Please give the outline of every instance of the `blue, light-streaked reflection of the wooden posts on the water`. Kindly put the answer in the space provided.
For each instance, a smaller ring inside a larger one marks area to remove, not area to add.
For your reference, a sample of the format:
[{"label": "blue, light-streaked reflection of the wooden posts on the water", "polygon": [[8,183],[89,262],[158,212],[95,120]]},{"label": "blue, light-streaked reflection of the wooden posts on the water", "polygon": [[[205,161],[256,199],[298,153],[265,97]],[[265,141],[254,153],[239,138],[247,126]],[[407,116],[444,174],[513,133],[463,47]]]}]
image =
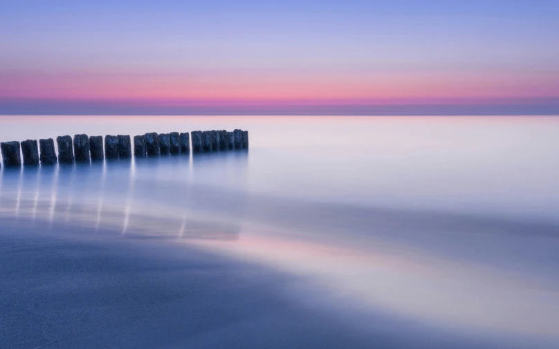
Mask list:
[{"label": "blue, light-streaked reflection of the wooden posts on the water", "polygon": [[[214,154],[216,155],[216,154]],[[245,155],[235,158],[243,159]],[[208,211],[214,197],[192,197],[192,178],[196,165],[212,172],[242,180],[243,162],[228,162],[228,156],[211,156],[191,163],[188,155],[163,158],[106,160],[91,164],[2,169],[0,183],[1,215],[15,220],[32,218],[35,222],[73,227],[91,227],[130,234],[129,237],[158,238],[236,238],[226,218]],[[219,178],[212,174],[208,178]],[[222,178],[223,180],[223,178]],[[235,209],[244,206],[243,196],[235,198]],[[203,202],[198,205],[197,202]],[[190,215],[190,211],[196,211]],[[196,217],[196,218],[189,218]]]}]

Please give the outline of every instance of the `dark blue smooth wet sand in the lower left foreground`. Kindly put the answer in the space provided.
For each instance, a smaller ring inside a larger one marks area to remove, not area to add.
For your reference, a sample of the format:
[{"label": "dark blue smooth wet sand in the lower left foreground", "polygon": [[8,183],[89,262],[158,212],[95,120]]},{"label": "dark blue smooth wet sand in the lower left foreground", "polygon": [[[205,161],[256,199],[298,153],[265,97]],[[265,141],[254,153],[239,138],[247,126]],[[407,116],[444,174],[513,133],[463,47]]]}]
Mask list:
[{"label": "dark blue smooth wet sand in the lower left foreground", "polygon": [[2,223],[0,348],[522,347],[340,312],[297,276],[185,245]]}]

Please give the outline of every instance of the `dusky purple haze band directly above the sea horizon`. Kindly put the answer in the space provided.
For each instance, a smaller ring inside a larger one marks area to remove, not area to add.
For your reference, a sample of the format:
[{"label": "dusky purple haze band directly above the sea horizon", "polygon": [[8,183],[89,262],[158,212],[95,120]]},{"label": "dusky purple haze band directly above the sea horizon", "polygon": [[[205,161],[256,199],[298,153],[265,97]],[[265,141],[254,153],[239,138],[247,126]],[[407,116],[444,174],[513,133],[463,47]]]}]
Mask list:
[{"label": "dusky purple haze band directly above the sea horizon", "polygon": [[[161,101],[160,101],[161,102]],[[424,100],[399,103],[293,101],[253,104],[157,103],[154,100],[50,100],[0,97],[0,115],[559,115],[559,98],[461,100],[448,103]],[[244,103],[243,103],[244,102]],[[292,103],[290,103],[292,102]],[[336,103],[337,102],[337,103]]]}]

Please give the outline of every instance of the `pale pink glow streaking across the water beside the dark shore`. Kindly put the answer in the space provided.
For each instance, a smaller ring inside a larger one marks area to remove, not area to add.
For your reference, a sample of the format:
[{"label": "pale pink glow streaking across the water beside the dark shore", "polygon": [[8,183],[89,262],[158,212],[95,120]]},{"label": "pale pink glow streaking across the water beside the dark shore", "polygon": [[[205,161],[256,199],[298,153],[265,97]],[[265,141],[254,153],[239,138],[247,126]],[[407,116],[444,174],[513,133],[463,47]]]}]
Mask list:
[{"label": "pale pink glow streaking across the water beside the dark shore", "polygon": [[382,309],[461,330],[559,340],[557,283],[543,285],[381,240],[350,247],[343,240],[324,242],[319,233],[304,240],[296,235],[250,227],[235,243],[188,243],[304,276],[349,308]]}]

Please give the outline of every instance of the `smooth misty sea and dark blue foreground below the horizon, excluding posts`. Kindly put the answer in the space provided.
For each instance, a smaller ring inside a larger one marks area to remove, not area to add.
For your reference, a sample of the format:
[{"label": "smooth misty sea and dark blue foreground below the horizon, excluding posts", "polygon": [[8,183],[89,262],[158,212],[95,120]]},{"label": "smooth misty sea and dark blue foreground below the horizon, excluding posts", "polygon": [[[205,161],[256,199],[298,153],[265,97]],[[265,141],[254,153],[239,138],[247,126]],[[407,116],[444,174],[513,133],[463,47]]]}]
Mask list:
[{"label": "smooth misty sea and dark blue foreground below the horizon, excluding posts", "polygon": [[0,348],[559,346],[559,117],[0,122],[250,137],[2,167]]}]

